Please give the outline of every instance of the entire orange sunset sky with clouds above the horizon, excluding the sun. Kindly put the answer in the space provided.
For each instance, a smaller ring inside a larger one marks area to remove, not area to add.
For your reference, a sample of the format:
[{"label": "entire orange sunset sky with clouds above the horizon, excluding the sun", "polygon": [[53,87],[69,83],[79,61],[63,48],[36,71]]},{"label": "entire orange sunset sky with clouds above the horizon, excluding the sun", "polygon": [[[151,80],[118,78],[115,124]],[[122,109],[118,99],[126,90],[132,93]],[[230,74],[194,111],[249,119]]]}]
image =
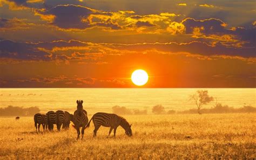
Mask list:
[{"label": "entire orange sunset sky with clouds above the horizon, excluding the sun", "polygon": [[0,87],[255,87],[255,1],[0,2]]}]

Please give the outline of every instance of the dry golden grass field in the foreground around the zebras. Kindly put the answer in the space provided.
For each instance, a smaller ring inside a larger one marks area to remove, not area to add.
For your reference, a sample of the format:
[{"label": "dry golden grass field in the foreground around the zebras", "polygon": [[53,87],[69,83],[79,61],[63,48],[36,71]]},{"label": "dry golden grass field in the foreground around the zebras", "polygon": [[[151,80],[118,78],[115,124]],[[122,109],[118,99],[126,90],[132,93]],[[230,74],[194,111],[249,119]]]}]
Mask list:
[{"label": "dry golden grass field in the foreground around the zebras", "polygon": [[[93,138],[93,123],[85,138],[76,130],[36,133],[33,117],[0,118],[0,159],[209,159],[255,158],[256,114],[130,115],[133,136],[100,127]],[[91,116],[89,116],[89,119]],[[112,133],[113,134],[113,133]]]}]

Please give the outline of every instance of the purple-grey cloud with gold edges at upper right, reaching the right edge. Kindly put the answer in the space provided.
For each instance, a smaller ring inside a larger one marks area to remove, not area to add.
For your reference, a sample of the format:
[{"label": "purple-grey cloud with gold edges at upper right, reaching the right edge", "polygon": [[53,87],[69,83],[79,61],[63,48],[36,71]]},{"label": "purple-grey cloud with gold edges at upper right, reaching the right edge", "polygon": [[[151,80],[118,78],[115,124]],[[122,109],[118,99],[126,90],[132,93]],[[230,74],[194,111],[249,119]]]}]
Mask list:
[{"label": "purple-grey cloud with gold edges at upper right, reaching the right edge", "polygon": [[220,19],[210,18],[196,20],[186,18],[182,21],[186,28],[186,34],[194,34],[196,38],[215,39],[215,42],[226,41],[227,46],[255,47],[255,27],[231,27]]}]

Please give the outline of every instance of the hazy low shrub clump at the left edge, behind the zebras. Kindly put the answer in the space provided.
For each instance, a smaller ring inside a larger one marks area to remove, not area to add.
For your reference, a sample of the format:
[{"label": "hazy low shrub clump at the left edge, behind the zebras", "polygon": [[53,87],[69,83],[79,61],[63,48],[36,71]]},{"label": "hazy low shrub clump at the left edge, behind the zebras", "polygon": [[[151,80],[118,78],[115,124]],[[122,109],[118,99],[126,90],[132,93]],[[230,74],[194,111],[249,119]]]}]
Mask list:
[{"label": "hazy low shrub clump at the left edge, behind the zebras", "polygon": [[40,109],[38,107],[14,107],[8,106],[6,108],[0,108],[0,116],[32,116],[39,113]]}]

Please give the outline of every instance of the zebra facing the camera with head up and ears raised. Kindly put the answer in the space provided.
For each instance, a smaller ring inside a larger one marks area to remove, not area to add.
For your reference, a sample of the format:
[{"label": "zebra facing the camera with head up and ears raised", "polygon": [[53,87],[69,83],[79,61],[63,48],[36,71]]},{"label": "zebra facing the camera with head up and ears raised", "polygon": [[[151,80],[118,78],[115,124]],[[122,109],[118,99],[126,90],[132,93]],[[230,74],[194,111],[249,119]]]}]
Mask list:
[{"label": "zebra facing the camera with head up and ears raised", "polygon": [[79,139],[80,127],[82,127],[81,131],[82,131],[82,139],[83,139],[84,129],[86,124],[88,123],[87,112],[83,109],[83,100],[82,101],[77,100],[77,110],[74,112],[72,122],[75,124],[75,126],[73,125],[73,127],[75,127],[77,130],[77,139]]}]

